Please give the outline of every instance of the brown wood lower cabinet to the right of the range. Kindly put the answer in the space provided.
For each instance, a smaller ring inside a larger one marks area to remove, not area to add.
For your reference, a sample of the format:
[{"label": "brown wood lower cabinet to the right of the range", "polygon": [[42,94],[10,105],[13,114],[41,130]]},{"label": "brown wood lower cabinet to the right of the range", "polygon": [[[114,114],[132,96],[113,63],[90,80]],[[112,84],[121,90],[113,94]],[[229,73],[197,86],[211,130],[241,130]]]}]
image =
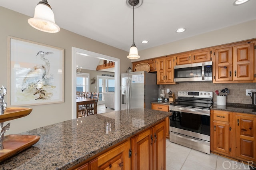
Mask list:
[{"label": "brown wood lower cabinet to the right of the range", "polygon": [[256,115],[211,110],[212,152],[256,162]]}]

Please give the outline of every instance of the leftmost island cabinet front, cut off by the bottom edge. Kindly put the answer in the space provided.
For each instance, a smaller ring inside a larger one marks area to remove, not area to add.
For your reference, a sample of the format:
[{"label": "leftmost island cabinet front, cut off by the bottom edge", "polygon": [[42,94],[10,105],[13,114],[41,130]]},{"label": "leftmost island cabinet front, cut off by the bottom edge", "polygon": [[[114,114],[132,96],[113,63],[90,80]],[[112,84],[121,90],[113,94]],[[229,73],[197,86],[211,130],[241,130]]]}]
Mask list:
[{"label": "leftmost island cabinet front, cut off by the bottom edge", "polygon": [[98,157],[98,170],[130,170],[129,158],[130,140],[116,146],[114,149]]}]

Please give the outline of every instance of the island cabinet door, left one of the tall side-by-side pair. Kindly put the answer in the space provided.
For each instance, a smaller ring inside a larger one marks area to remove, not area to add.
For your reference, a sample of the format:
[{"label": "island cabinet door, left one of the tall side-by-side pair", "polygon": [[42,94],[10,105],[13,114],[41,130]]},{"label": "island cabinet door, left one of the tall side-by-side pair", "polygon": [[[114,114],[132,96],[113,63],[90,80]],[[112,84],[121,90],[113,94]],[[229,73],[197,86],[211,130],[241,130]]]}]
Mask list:
[{"label": "island cabinet door, left one of the tall side-by-side pair", "polygon": [[152,128],[131,138],[132,142],[132,170],[153,169],[153,144]]}]

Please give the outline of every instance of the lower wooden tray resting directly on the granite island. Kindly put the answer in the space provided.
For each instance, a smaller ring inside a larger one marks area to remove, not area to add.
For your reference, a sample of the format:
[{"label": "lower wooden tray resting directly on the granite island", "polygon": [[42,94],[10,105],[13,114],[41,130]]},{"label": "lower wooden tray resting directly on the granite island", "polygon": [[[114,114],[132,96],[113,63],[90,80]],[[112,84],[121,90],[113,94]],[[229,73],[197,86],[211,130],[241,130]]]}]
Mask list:
[{"label": "lower wooden tray resting directly on the granite island", "polygon": [[38,142],[40,136],[26,134],[9,134],[4,136],[4,149],[0,150],[0,162],[18,154]]}]

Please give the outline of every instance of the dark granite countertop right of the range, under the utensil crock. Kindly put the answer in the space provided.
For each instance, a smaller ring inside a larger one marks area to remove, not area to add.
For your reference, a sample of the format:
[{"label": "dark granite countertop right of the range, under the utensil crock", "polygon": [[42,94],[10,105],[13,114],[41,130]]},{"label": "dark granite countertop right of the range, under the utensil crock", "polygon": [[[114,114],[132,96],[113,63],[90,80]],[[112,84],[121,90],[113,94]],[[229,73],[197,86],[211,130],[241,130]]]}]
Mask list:
[{"label": "dark granite countertop right of the range, under the utensil crock", "polygon": [[249,113],[256,115],[256,108],[248,104],[226,103],[226,106],[212,105],[211,109],[229,112]]}]

